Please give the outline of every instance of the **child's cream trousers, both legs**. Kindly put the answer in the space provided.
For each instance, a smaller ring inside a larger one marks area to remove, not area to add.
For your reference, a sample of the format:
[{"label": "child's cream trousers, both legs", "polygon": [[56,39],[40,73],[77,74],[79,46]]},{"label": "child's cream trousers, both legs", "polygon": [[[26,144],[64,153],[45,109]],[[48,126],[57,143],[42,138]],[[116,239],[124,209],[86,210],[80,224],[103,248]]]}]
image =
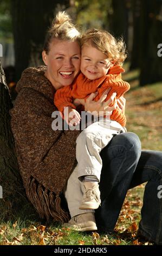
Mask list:
[{"label": "child's cream trousers, both legs", "polygon": [[83,192],[80,180],[84,175],[95,175],[100,181],[102,160],[101,150],[111,141],[114,135],[125,132],[126,129],[112,120],[100,119],[83,130],[76,139],[77,166],[70,175],[64,192],[70,216],[94,212],[94,210],[80,210]]}]

